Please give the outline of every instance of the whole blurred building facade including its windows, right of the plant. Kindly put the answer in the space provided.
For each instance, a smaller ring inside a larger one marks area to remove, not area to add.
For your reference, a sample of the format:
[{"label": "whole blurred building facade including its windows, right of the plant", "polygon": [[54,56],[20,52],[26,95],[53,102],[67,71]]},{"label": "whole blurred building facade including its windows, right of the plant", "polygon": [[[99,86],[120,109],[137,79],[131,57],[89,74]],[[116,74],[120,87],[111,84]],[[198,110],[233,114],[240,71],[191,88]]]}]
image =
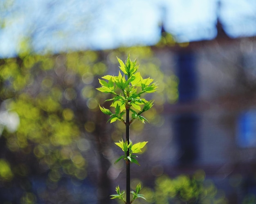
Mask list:
[{"label": "whole blurred building facade including its windows, right of the plant", "polygon": [[179,78],[179,100],[164,110],[175,149],[164,167],[171,175],[203,169],[230,203],[242,203],[256,195],[256,41],[217,28],[212,41],[155,49]]}]

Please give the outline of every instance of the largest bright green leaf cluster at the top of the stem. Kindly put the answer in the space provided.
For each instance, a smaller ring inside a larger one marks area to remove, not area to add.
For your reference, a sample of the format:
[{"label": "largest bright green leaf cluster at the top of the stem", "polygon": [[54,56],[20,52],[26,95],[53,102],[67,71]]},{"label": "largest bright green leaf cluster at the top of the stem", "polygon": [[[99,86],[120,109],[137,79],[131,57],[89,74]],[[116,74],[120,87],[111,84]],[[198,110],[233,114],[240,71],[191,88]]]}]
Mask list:
[{"label": "largest bright green leaf cluster at the top of the stem", "polygon": [[[100,110],[110,116],[110,123],[115,121],[124,121],[123,115],[127,109],[132,112],[133,120],[138,119],[142,123],[148,122],[148,120],[141,116],[141,114],[149,110],[153,106],[153,101],[147,101],[141,99],[141,94],[152,93],[157,90],[157,83],[153,83],[153,79],[150,77],[143,79],[140,73],[137,72],[139,66],[137,66],[137,60],[131,61],[130,55],[128,55],[126,63],[117,57],[119,61],[119,68],[123,74],[119,71],[118,76],[105,75],[102,79],[99,79],[101,84],[97,90],[105,93],[113,94],[112,99],[106,101],[112,101],[110,107],[115,107],[115,112],[111,112],[109,109],[101,107]],[[104,80],[105,79],[105,80]]]}]

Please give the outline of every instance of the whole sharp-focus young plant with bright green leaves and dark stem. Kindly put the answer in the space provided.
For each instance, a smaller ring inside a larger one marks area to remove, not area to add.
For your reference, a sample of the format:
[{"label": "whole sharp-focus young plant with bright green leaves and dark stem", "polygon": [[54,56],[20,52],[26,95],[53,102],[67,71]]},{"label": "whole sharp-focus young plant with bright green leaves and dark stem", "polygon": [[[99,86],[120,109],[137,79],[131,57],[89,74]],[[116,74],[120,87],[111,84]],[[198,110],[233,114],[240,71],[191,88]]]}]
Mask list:
[{"label": "whole sharp-focus young plant with bright green leaves and dark stem", "polygon": [[[110,123],[115,121],[121,121],[126,126],[126,138],[125,141],[121,139],[118,143],[115,143],[124,151],[124,155],[120,156],[115,163],[124,159],[126,162],[126,200],[124,199],[125,191],[120,192],[119,186],[116,187],[117,194],[111,195],[111,199],[118,198],[126,204],[131,204],[136,198],[143,198],[143,195],[139,194],[141,185],[138,184],[136,191],[130,191],[130,163],[139,165],[137,161],[136,153],[141,152],[141,149],[148,142],[139,142],[133,144],[130,140],[130,124],[135,120],[139,120],[142,123],[148,122],[148,120],[141,114],[149,110],[153,106],[153,101],[147,101],[141,98],[144,93],[153,93],[157,89],[157,84],[153,83],[153,79],[150,77],[143,79],[139,72],[137,72],[139,66],[137,61],[131,61],[130,55],[124,62],[117,57],[119,61],[118,76],[106,75],[99,79],[101,88],[97,90],[113,95],[112,99],[106,101],[112,101],[111,107],[114,107],[114,111],[110,111],[105,107],[100,107],[101,112],[110,116]],[[130,117],[131,112],[131,117]],[[125,116],[125,118],[123,117]],[[132,194],[132,200],[130,201],[130,193]]]}]

